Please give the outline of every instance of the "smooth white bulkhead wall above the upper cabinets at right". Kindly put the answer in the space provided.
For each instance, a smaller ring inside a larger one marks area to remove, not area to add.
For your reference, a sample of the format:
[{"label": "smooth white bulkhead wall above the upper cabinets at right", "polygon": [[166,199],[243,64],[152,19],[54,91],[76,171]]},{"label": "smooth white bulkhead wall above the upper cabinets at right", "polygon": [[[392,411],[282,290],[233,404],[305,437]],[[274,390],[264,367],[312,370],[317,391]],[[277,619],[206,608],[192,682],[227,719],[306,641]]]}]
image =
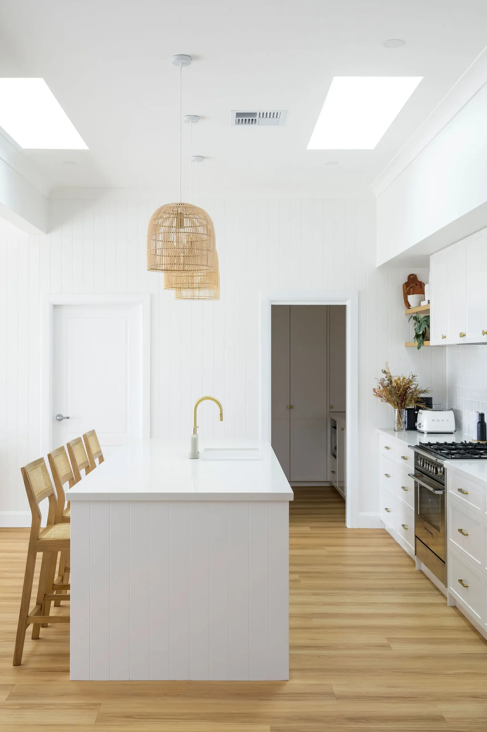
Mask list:
[{"label": "smooth white bulkhead wall above the upper cabinets at right", "polygon": [[[487,84],[377,198],[377,264],[487,226]],[[416,246],[418,245],[418,246]]]}]

